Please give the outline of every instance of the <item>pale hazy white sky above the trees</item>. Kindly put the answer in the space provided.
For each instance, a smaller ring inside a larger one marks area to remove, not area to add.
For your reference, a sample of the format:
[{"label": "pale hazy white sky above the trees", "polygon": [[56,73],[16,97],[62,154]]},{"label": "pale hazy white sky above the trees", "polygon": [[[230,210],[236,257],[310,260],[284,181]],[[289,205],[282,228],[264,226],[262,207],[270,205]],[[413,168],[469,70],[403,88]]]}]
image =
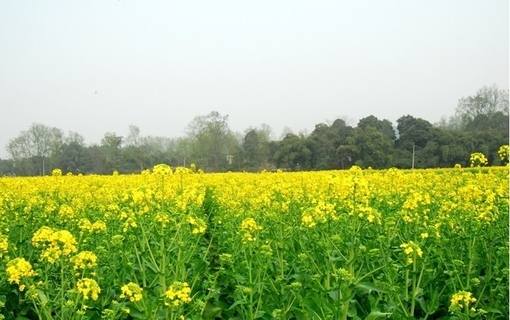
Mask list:
[{"label": "pale hazy white sky above the trees", "polygon": [[311,132],[339,117],[432,123],[483,85],[509,87],[509,2],[0,2],[0,158],[33,122],[178,137],[195,116],[232,130]]}]

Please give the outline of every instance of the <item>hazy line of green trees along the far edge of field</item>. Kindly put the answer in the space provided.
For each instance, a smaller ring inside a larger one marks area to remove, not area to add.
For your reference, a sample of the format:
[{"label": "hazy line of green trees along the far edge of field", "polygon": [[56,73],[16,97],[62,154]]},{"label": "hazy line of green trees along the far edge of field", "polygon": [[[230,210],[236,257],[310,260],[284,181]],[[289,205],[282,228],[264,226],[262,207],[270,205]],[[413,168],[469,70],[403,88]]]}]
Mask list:
[{"label": "hazy line of green trees along the far edge of field", "polygon": [[436,124],[411,115],[393,124],[370,115],[356,126],[336,119],[316,124],[310,134],[288,132],[279,140],[271,138],[267,125],[234,133],[228,116],[217,111],[195,117],[179,138],[143,136],[130,125],[127,136],[107,132],[100,144],[89,146],[79,133],[34,123],[9,141],[11,158],[0,160],[0,175],[45,175],[53,168],[73,174],[136,173],[158,163],[194,163],[206,172],[437,168],[469,166],[473,152],[498,165],[498,148],[508,144],[508,90],[493,85],[461,98],[455,115]]}]

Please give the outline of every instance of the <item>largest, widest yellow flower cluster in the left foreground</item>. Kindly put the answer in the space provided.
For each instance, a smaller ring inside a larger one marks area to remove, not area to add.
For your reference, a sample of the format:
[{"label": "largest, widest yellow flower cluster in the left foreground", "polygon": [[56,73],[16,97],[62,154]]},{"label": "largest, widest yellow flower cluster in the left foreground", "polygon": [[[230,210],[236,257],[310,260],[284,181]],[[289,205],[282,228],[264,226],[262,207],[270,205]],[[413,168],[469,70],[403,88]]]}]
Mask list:
[{"label": "largest, widest yellow flower cluster in the left foreground", "polygon": [[76,239],[67,230],[55,231],[49,227],[41,227],[32,237],[34,247],[43,247],[41,259],[54,263],[61,256],[69,256],[76,252]]}]

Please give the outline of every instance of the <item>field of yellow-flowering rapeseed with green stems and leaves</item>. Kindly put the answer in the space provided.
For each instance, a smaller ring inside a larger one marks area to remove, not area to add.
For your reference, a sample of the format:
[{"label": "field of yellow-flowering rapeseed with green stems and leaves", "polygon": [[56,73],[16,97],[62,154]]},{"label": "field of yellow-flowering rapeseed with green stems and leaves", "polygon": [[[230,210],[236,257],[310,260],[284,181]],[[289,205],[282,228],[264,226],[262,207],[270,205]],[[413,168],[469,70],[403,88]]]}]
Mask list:
[{"label": "field of yellow-flowering rapeseed with green stems and leaves", "polygon": [[0,178],[0,314],[507,319],[508,185],[508,167]]}]

